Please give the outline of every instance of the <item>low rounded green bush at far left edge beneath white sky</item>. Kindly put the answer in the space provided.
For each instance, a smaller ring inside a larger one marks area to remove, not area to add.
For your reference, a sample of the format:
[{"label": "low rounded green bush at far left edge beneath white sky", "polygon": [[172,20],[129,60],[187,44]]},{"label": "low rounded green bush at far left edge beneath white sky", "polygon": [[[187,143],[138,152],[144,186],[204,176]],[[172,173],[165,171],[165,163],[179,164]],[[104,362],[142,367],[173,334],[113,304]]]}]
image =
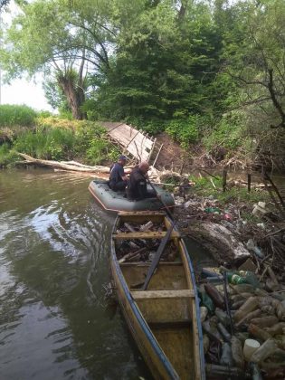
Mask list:
[{"label": "low rounded green bush at far left edge beneath white sky", "polygon": [[0,105],[0,126],[33,127],[37,113],[27,106]]}]

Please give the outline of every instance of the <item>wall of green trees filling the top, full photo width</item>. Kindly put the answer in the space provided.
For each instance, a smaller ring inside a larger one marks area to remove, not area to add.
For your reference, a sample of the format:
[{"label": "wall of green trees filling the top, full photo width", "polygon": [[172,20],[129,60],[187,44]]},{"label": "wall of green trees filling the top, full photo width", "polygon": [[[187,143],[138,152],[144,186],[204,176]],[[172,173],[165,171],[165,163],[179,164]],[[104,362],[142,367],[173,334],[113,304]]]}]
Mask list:
[{"label": "wall of green trees filling the top, full photo width", "polygon": [[7,79],[43,71],[48,99],[74,118],[166,127],[184,146],[285,127],[284,0],[18,4]]}]

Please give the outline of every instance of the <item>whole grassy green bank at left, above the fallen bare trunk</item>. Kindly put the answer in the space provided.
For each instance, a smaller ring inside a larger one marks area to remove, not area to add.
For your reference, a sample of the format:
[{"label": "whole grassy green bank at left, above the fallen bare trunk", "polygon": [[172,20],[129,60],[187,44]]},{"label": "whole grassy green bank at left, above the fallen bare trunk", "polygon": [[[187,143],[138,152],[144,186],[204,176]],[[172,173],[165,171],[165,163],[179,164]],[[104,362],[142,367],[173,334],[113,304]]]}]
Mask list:
[{"label": "whole grassy green bank at left, above the fallen bare trunk", "polygon": [[35,158],[78,160],[97,165],[115,160],[118,147],[109,143],[106,129],[88,120],[68,120],[37,113],[26,106],[0,106],[0,166],[21,160],[16,152]]}]

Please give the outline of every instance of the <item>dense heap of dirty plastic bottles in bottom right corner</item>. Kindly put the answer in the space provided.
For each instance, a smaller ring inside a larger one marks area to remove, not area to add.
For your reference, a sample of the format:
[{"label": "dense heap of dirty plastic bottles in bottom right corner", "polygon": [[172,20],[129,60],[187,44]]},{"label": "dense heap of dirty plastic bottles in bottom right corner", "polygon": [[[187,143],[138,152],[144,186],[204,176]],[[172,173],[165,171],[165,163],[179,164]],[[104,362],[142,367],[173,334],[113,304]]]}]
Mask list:
[{"label": "dense heap of dirty plastic bottles in bottom right corner", "polygon": [[261,279],[252,271],[202,269],[207,378],[285,378],[285,289],[267,273]]}]

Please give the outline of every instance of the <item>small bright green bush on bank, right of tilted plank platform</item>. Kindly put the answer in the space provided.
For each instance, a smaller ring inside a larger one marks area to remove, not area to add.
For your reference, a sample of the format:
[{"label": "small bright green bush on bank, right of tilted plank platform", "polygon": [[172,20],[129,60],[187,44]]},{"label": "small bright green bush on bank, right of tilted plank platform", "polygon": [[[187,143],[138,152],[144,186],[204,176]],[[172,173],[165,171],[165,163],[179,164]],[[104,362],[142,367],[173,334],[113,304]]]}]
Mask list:
[{"label": "small bright green bush on bank, right of tilted plank platform", "polygon": [[190,115],[187,119],[173,119],[166,127],[166,132],[182,147],[187,148],[189,144],[198,141],[199,129],[203,128],[204,118],[200,115]]}]

